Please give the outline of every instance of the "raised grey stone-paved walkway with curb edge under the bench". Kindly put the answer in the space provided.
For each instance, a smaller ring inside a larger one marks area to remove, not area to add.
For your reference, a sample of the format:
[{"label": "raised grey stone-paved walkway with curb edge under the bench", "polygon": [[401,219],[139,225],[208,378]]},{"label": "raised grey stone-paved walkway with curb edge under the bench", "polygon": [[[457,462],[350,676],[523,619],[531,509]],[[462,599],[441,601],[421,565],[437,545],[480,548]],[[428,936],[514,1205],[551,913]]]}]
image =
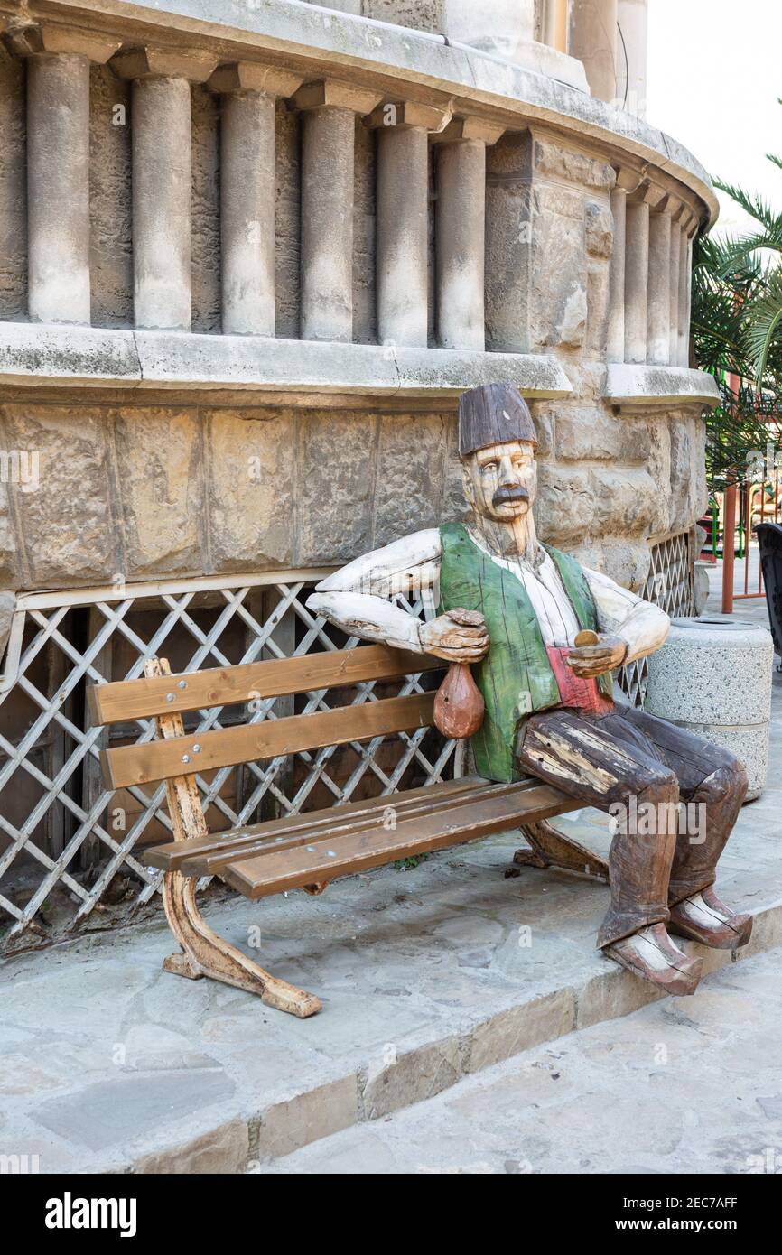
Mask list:
[{"label": "raised grey stone-paved walkway with curb edge under the bench", "polygon": [[[782,945],[781,764],[774,674],[768,786],[743,808],[718,875],[726,900],[756,914],[729,969],[737,989],[752,955]],[[606,851],[599,812],[557,823]],[[505,878],[517,846],[510,832],[318,899],[207,906],[217,931],[321,998],[309,1020],[163,973],[162,912],[8,961],[0,1155],[38,1155],[41,1172],[238,1172],[351,1126],[379,1128],[521,1052],[559,1049],[574,1029],[613,1020],[619,1032],[618,1018],[656,994],[594,949],[606,886],[532,868]],[[703,954],[709,970],[731,961]],[[709,996],[704,986],[689,1013]]]}]

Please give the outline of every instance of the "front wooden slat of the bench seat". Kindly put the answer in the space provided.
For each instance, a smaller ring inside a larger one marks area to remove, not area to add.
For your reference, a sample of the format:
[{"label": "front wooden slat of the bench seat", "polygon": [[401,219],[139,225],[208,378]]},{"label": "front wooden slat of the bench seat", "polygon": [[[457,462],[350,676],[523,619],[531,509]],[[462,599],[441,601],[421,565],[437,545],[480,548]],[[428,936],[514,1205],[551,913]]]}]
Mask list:
[{"label": "front wooden slat of the bench seat", "polygon": [[395,858],[474,841],[522,822],[577,809],[579,804],[549,784],[497,786],[495,793],[462,808],[454,806],[441,813],[433,807],[424,816],[403,818],[395,831],[379,826],[338,835],[333,841],[319,841],[310,847],[297,845],[254,858],[238,858],[228,863],[221,876],[245,897],[266,897],[367,871]]}]

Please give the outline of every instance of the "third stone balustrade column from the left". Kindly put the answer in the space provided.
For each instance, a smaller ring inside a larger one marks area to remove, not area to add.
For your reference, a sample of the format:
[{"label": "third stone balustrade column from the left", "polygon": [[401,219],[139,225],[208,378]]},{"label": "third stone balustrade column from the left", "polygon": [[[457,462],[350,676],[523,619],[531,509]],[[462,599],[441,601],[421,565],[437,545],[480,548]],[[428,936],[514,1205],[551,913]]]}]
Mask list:
[{"label": "third stone balustrade column from the left", "polygon": [[300,74],[220,65],[220,241],[223,335],[275,334],[275,105]]}]

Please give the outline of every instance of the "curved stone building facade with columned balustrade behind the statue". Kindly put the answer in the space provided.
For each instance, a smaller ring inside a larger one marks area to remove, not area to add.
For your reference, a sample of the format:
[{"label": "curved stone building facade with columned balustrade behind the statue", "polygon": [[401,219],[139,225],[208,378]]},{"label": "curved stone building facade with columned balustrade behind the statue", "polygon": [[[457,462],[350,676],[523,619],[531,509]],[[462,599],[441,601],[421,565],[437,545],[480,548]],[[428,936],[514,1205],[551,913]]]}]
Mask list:
[{"label": "curved stone building facade with columned balustrade behind the statue", "polygon": [[[715,200],[643,118],[644,9],[0,0],[13,930],[55,885],[82,916],[123,868],[154,887],[131,851],[159,797],[113,832],[84,684],[329,648],[308,581],[461,515],[466,388],[530,399],[545,540],[689,609]],[[221,787],[221,822],[255,813]]]}]

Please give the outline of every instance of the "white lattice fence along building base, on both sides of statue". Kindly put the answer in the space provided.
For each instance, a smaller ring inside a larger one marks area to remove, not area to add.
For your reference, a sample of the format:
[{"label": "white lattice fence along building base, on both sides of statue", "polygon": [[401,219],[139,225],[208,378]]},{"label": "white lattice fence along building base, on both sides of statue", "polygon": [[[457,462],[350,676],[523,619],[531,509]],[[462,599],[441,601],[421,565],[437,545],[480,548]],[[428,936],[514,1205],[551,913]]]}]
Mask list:
[{"label": "white lattice fence along building base, on both sides of statue", "polygon": [[[0,678],[1,951],[143,916],[159,887],[161,873],[143,865],[141,850],[171,833],[163,786],[112,793],[98,758],[109,735],[113,744],[149,740],[153,722],[134,720],[110,733],[90,727],[87,685],[142,675],[156,655],[167,656],[174,671],[188,671],[359,644],[306,609],[308,592],[323,574],[173,580],[19,599]],[[692,612],[689,533],[656,546],[643,595],[673,615]],[[424,614],[420,601],[398,601]],[[645,659],[620,674],[638,705],[646,679]],[[186,718],[186,729],[360,704],[390,695],[389,689],[404,695],[432,683],[424,673],[394,685],[364,683],[200,710]],[[418,729],[196,779],[216,831],[436,783],[462,769],[462,744]]]}]

